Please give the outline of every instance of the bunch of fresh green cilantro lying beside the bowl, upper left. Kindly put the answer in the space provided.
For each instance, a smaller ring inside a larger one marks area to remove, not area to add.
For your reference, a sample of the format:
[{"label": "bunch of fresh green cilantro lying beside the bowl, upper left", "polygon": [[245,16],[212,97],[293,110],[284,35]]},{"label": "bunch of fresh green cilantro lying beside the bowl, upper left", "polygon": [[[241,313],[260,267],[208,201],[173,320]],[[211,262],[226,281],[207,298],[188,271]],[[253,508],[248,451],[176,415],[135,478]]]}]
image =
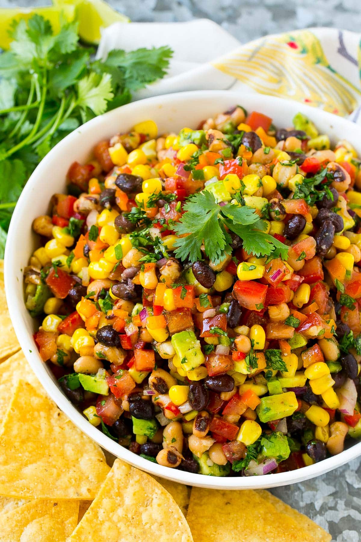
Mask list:
[{"label": "bunch of fresh green cilantro lying beside the bowl, upper left", "polygon": [[39,15],[14,22],[0,54],[0,257],[12,210],[30,173],[50,149],[87,120],[127,104],[162,78],[168,47],[112,50],[103,61],[78,43],[77,22],[55,35]]}]

